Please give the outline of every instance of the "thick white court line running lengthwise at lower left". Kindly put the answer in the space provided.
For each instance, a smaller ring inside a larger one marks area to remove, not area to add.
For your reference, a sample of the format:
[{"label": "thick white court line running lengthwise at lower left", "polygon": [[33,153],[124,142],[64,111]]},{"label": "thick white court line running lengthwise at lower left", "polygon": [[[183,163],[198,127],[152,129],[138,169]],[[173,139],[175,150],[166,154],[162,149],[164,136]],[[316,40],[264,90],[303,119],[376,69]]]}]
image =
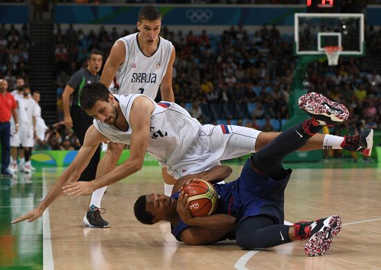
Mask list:
[{"label": "thick white court line running lengthwise at lower left", "polygon": [[[46,197],[47,188],[46,188],[46,179],[45,179],[45,168],[42,168],[42,195]],[[43,264],[44,270],[53,270],[53,249],[51,247],[51,222],[49,219],[49,210],[46,209],[44,211],[44,215],[42,215],[42,244],[44,249],[43,255]]]}]

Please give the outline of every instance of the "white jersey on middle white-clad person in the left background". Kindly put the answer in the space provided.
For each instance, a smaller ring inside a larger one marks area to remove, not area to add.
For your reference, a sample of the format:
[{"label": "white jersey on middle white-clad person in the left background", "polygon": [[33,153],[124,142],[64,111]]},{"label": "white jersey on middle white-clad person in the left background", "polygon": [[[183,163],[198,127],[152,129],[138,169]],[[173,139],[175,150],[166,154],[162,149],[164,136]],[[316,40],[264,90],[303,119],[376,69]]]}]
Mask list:
[{"label": "white jersey on middle white-clad person in the left background", "polygon": [[19,129],[33,131],[33,116],[37,116],[37,103],[33,98],[20,98]]}]

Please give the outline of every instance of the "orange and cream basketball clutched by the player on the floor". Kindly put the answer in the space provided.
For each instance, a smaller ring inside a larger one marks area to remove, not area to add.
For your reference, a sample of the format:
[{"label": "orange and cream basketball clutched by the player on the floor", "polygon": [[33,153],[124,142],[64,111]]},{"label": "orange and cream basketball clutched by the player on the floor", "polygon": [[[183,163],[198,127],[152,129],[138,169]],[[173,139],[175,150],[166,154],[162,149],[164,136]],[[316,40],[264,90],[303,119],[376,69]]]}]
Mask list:
[{"label": "orange and cream basketball clutched by the player on the floor", "polygon": [[190,215],[204,217],[214,213],[218,194],[211,183],[199,179],[191,180],[183,191],[188,194]]}]

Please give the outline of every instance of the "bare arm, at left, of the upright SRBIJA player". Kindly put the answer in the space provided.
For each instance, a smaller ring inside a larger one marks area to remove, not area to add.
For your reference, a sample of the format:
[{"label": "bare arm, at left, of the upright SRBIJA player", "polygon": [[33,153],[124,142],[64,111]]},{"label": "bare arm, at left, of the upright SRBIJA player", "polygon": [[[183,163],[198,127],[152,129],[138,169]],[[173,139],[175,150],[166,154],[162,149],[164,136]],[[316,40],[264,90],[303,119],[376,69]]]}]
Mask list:
[{"label": "bare arm, at left, of the upright SRBIJA player", "polygon": [[125,44],[121,41],[117,41],[111,48],[109,57],[105,66],[103,67],[102,75],[100,75],[100,82],[105,84],[109,88],[112,80],[118,71],[119,66],[125,61]]}]

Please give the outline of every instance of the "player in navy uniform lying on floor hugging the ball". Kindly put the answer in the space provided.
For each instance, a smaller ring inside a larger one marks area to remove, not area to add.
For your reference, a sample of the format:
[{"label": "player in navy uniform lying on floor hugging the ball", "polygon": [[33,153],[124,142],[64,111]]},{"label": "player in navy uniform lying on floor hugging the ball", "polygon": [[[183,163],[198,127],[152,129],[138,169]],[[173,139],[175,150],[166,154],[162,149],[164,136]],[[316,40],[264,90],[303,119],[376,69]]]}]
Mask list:
[{"label": "player in navy uniform lying on floor hugging the ball", "polygon": [[[323,105],[324,104],[324,105]],[[231,173],[226,166],[179,179],[172,196],[142,195],[136,200],[134,213],[143,224],[161,220],[170,222],[172,234],[185,244],[209,244],[236,239],[244,249],[263,249],[296,240],[308,240],[307,255],[323,255],[342,227],[340,217],[331,215],[315,222],[284,225],[284,190],[291,176],[282,160],[302,147],[324,125],[334,125],[348,119],[344,105],[332,102],[318,93],[299,98],[299,107],[311,118],[285,130],[274,141],[252,154],[240,177],[225,184],[214,184],[218,208],[213,215],[193,217],[189,212],[188,195],[177,192],[190,178],[220,181]]]}]

